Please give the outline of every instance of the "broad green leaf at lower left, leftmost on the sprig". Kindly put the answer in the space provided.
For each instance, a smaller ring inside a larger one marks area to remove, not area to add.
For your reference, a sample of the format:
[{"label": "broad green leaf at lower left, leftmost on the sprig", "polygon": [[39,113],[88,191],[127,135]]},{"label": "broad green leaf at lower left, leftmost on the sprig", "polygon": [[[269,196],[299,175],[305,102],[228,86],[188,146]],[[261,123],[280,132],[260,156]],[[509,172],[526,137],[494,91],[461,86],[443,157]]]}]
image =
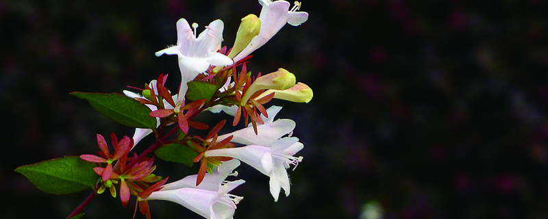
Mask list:
[{"label": "broad green leaf at lower left, leftmost on the sprig", "polygon": [[80,157],[66,156],[15,169],[25,175],[36,188],[50,194],[69,194],[93,188],[99,175],[92,162]]}]

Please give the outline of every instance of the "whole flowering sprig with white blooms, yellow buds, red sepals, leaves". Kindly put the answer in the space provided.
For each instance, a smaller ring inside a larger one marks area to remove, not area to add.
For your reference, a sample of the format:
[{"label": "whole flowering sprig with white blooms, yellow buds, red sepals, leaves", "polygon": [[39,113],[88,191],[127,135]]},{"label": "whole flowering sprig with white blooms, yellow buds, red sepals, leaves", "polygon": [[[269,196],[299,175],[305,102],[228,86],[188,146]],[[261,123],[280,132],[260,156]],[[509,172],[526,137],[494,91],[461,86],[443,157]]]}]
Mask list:
[{"label": "whole flowering sprig with white blooms, yellow buds, red sepals, leaves", "polygon": [[[173,93],[166,88],[168,75],[164,74],[143,88],[131,87],[138,92],[124,90],[125,95],[71,93],[90,101],[104,116],[136,128],[133,138],[124,136],[119,140],[112,133],[114,153],[110,152],[105,138],[97,134],[100,149],[97,155],[56,159],[18,170],[44,168],[50,171],[51,178],[30,174],[29,179],[51,193],[93,188],[92,194],[69,218],[81,216],[79,211],[105,190],[113,197],[118,190],[123,206],[135,196],[136,209],[147,218],[151,218],[149,201],[155,200],[179,203],[204,218],[232,218],[243,197],[229,192],[245,181],[226,181],[226,178],[238,177],[234,170],[240,162],[270,178],[274,201],[278,201],[282,190],[288,196],[287,169],[294,166],[295,170],[302,162],[303,157],[296,154],[303,149],[303,144],[292,137],[293,120],[274,119],[282,107],[265,105],[272,99],[308,103],[313,96],[312,89],[297,82],[295,75],[284,68],[264,75],[253,74],[247,69],[247,63],[251,53],[271,40],[286,23],[301,25],[308,14],[297,11],[301,7],[299,2],[292,8],[287,1],[259,0],[259,3],[262,5],[260,16],[249,14],[242,18],[230,49],[221,44],[223,21],[212,21],[200,34],[197,23],[190,25],[184,18],[177,21],[177,44],[155,53],[178,57],[181,82]],[[231,117],[210,127],[197,120],[197,115],[206,111],[225,112]],[[243,120],[243,125],[237,131],[226,133],[223,127],[227,120],[232,121],[228,124],[234,127]],[[197,135],[201,132],[195,129],[208,130],[208,134]],[[134,146],[151,134],[154,142],[144,151],[136,152]],[[196,175],[166,183],[168,177],[162,179],[153,174],[155,159],[187,166],[199,163],[199,170]],[[69,165],[72,170],[48,169],[60,164]],[[45,185],[51,181],[71,186]]]}]

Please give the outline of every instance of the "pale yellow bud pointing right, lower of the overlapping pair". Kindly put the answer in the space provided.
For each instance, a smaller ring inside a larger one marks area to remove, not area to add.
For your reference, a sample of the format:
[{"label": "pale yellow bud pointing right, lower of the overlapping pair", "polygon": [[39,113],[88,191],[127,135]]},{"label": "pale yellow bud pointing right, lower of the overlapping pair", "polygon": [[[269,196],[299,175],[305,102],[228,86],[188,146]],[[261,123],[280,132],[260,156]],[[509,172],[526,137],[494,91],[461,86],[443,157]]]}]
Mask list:
[{"label": "pale yellow bud pointing right, lower of the overlapping pair", "polygon": [[312,89],[304,83],[297,83],[295,86],[288,88],[286,90],[266,90],[255,99],[261,99],[263,96],[274,93],[275,99],[282,99],[286,101],[291,101],[295,103],[308,103],[312,100]]}]

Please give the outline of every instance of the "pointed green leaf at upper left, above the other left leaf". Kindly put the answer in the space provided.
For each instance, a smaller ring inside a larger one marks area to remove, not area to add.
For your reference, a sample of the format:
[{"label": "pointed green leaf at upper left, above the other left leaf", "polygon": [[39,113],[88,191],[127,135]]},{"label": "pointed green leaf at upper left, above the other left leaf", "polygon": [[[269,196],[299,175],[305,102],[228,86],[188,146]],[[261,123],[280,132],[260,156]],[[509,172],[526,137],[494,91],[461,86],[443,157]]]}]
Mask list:
[{"label": "pointed green leaf at upper left, above the other left leaf", "polygon": [[89,101],[95,110],[116,123],[143,129],[156,127],[156,118],[149,116],[151,112],[149,107],[127,96],[86,92],[71,92],[71,94]]}]

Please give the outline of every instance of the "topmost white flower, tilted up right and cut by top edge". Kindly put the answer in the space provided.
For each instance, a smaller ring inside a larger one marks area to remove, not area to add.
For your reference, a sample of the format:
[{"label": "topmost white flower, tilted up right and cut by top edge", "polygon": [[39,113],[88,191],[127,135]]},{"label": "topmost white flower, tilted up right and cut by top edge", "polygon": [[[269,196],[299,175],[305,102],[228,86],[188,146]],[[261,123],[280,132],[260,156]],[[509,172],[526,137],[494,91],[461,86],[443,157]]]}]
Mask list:
[{"label": "topmost white flower, tilted up right and cut by top edge", "polygon": [[234,62],[238,62],[256,49],[259,49],[259,47],[262,47],[286,23],[297,26],[308,19],[308,13],[297,12],[297,9],[300,8],[300,3],[296,3],[291,10],[289,10],[290,3],[287,1],[273,2],[271,0],[259,0],[259,3],[262,5],[261,14],[259,15],[261,21],[259,35],[253,37],[251,42],[247,44],[247,47],[234,57]]}]

